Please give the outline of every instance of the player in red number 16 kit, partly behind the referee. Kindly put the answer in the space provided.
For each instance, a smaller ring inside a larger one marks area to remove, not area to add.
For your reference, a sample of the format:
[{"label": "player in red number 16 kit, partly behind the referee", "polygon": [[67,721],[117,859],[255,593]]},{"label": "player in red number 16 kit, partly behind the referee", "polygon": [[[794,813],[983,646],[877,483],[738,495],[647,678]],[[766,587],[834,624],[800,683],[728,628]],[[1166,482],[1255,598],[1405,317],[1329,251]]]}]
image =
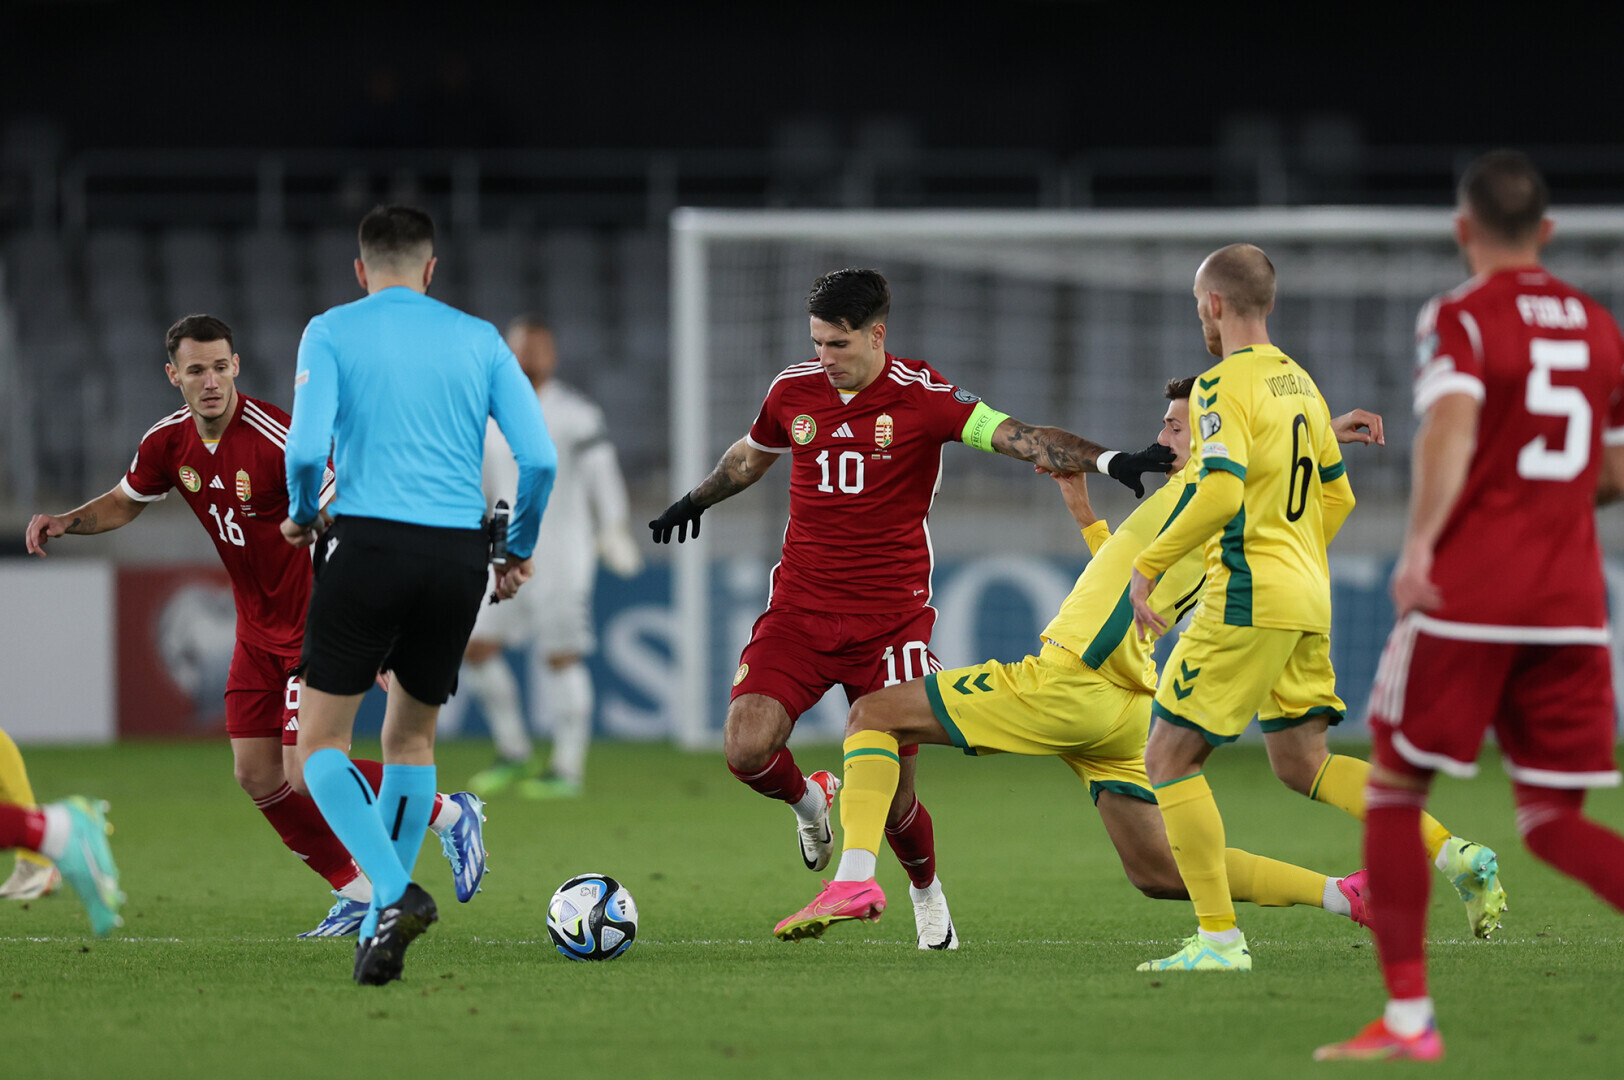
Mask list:
[{"label": "player in red number 16 kit, partly behind the referee", "polygon": [[[28,523],[28,551],[65,533],[93,534],[122,528],[148,503],[180,490],[208,529],[237,604],[237,646],[226,680],[226,732],[231,736],[237,783],[253,806],[312,870],[325,877],[338,903],[304,937],[354,934],[370,900],[370,885],[333,836],[299,783],[299,666],[305,607],[310,603],[310,554],[281,534],[287,516],[287,471],[283,447],[287,414],[237,391],[240,357],[231,326],[211,315],[188,315],[169,328],[166,370],[185,406],[153,424],[141,437],[130,469],[117,487],[63,515],[37,513]],[[331,477],[322,502],[331,497]],[[374,786],[383,768],[369,768]],[[471,796],[442,797],[434,828],[458,875],[458,895],[469,869],[484,869],[477,806]],[[474,810],[464,814],[464,809]],[[463,819],[468,820],[463,820]]]}]

